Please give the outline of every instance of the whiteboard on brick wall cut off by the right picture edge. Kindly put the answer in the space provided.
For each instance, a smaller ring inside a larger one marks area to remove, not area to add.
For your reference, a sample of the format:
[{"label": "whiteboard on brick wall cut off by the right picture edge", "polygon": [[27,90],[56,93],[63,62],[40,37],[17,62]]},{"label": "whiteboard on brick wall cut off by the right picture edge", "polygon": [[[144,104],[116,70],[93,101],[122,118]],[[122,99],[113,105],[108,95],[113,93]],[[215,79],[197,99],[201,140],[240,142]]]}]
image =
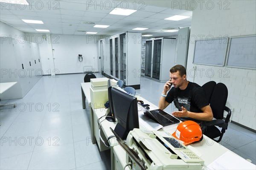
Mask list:
[{"label": "whiteboard on brick wall cut off by the right picture edge", "polygon": [[227,66],[256,69],[256,35],[231,37]]}]

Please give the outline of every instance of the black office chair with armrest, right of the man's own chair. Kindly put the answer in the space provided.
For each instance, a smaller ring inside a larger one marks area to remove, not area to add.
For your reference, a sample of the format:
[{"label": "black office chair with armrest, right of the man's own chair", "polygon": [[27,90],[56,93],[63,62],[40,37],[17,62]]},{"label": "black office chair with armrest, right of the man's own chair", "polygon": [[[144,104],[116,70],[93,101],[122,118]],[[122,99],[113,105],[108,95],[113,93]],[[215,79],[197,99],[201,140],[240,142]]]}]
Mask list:
[{"label": "black office chair with armrest, right of the man's own chair", "polygon": [[[213,139],[215,142],[221,141],[230,120],[231,110],[225,106],[227,102],[227,94],[227,87],[221,82],[216,84],[212,91],[210,106],[215,119],[211,122],[206,122],[207,129],[205,130],[204,135]],[[227,117],[225,120],[223,120],[224,111],[227,111]],[[216,126],[221,127],[221,130],[219,130]]]}]

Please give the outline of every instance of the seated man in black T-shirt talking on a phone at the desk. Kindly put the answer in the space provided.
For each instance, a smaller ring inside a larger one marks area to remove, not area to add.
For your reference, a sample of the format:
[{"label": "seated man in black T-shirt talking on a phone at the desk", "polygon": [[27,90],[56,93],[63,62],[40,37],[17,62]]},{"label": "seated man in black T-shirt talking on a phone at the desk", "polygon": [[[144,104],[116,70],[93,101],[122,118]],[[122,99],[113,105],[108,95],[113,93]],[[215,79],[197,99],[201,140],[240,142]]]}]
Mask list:
[{"label": "seated man in black T-shirt talking on a phone at the desk", "polygon": [[[198,123],[212,121],[212,109],[207,102],[205,91],[200,85],[186,79],[186,68],[175,65],[170,69],[170,78],[163,87],[159,108],[163,110],[174,101],[179,111],[174,111],[172,115],[180,120],[193,120]],[[170,90],[172,85],[174,87]],[[203,128],[202,130],[204,131]]]}]

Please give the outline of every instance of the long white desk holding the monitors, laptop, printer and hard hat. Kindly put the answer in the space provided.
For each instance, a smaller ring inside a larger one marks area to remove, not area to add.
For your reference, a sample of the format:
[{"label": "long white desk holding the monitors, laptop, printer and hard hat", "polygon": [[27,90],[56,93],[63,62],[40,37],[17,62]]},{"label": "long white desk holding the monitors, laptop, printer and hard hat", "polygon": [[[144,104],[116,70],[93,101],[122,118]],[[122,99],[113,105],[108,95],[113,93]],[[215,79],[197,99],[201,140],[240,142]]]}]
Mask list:
[{"label": "long white desk holding the monitors, laptop, printer and hard hat", "polygon": [[[97,120],[100,117],[104,116],[106,112],[108,112],[107,109],[105,108],[94,109],[92,105],[90,105],[90,82],[81,83],[81,91],[82,91],[83,108],[85,108],[85,97],[87,98],[89,103],[92,143],[93,144],[97,143],[100,151],[111,149],[111,169],[115,169],[115,168],[123,169],[124,166],[126,165],[126,162],[125,162],[126,153],[125,153],[125,150],[123,150],[122,147],[118,145],[116,138],[113,137],[109,140],[110,147],[106,147],[105,144],[99,139],[99,125]],[[158,108],[157,106],[153,105],[151,102],[148,102],[142,97],[140,99],[143,100],[145,104],[149,104],[150,107]],[[116,126],[116,122],[108,122],[108,120],[105,120],[105,117],[102,117],[101,119],[99,119],[99,122],[101,122],[100,135],[102,139],[106,141],[109,136],[113,135],[109,127],[112,127],[112,129],[114,129]],[[176,128],[177,128],[177,125],[168,127],[164,129],[164,131],[172,134],[173,132],[175,132]],[[160,131],[163,131],[163,129],[160,129]],[[194,147],[194,150],[192,151],[194,151],[195,153],[198,152],[201,154],[201,159],[204,160],[204,168],[206,168],[209,164],[212,163],[212,161],[217,159],[226,151],[230,151],[226,147],[222,146],[221,144],[218,144],[212,139],[209,139],[207,136],[204,136],[204,139],[201,142],[197,142],[196,144],[190,144],[190,146]],[[125,169],[128,169],[128,167],[126,167]]]}]

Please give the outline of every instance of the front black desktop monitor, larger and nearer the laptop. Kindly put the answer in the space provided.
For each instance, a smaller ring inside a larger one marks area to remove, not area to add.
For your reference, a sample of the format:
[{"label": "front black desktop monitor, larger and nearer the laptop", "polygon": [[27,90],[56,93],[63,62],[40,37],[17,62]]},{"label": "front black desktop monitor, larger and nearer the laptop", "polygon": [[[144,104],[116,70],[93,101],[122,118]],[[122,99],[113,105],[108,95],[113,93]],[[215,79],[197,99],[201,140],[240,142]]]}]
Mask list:
[{"label": "front black desktop monitor, larger and nearer the laptop", "polygon": [[126,139],[130,130],[140,127],[137,98],[116,88],[111,88],[111,95],[117,122],[114,131],[121,139]]}]

